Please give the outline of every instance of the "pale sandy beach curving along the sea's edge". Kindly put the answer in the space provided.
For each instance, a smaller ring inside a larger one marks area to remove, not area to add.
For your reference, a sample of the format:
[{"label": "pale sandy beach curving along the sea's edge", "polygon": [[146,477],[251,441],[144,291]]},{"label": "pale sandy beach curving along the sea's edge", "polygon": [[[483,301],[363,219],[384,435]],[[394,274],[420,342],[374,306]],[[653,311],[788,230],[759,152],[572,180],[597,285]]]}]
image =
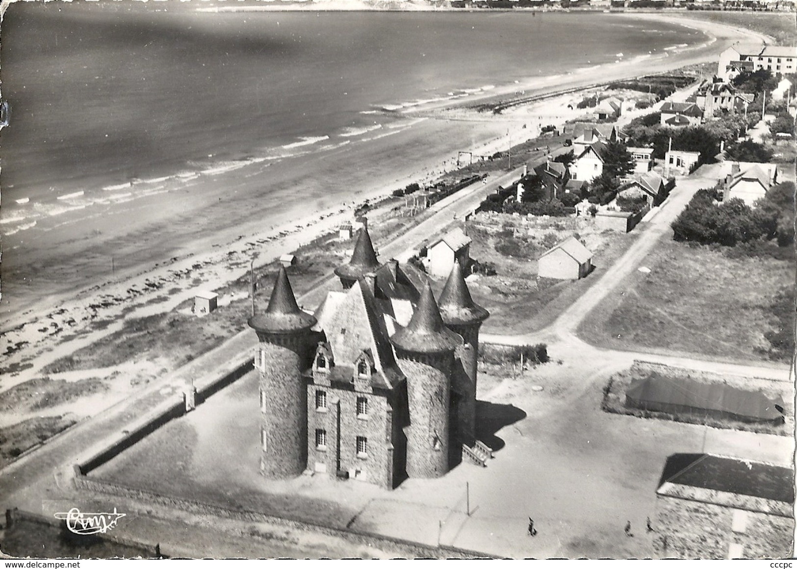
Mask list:
[{"label": "pale sandy beach curving along the sea's edge", "polygon": [[[618,14],[618,23],[626,18],[677,22],[705,33],[705,41],[662,55],[508,84],[456,105],[436,102],[402,109],[398,114],[416,120],[411,128],[381,132],[356,149],[341,147],[320,159],[290,164],[277,160],[265,169],[257,164],[208,173],[190,180],[194,186],[167,187],[129,206],[116,204],[90,215],[69,212],[45,219],[35,232],[3,236],[0,307],[6,353],[0,367],[17,371],[3,374],[0,389],[35,377],[46,363],[119,328],[122,316],[169,310],[196,288],[213,289],[241,277],[253,256],[255,266],[265,265],[333,230],[366,199],[434,179],[453,169],[457,151],[491,154],[534,137],[540,125],[563,123],[570,118],[568,102],[579,93],[497,116],[467,108],[480,98],[489,102],[519,93],[542,96],[664,72],[712,61],[734,41],[761,39],[748,30],[681,16]],[[164,185],[170,183],[176,184],[167,180]],[[200,186],[202,191],[188,190]],[[108,325],[92,328],[100,321]],[[33,367],[19,371],[27,363]]]}]

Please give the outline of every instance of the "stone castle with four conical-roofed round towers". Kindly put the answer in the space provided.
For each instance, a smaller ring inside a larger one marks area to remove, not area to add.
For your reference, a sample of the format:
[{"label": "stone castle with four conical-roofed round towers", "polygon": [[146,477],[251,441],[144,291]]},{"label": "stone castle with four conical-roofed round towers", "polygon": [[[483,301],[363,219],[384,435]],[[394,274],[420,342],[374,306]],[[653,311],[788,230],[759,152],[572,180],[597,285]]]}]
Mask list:
[{"label": "stone castle with four conical-roofed round towers", "polygon": [[434,300],[413,265],[380,264],[367,229],[335,269],[315,315],[303,312],[280,269],[257,332],[261,473],[308,471],[395,488],[406,477],[441,477],[490,449],[475,437],[479,328],[455,263]]}]

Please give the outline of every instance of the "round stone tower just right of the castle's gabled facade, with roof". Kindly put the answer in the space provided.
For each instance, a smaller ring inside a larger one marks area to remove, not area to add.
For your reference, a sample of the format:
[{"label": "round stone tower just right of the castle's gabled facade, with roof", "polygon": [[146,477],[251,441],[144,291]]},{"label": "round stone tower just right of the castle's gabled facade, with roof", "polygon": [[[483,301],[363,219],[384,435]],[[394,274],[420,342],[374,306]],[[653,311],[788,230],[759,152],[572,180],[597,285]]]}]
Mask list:
[{"label": "round stone tower just right of the castle's gabled facade, with roof", "polygon": [[450,377],[461,339],[443,324],[428,283],[410,324],[396,332],[391,343],[406,375],[411,420],[406,428],[406,473],[441,477],[449,470]]}]

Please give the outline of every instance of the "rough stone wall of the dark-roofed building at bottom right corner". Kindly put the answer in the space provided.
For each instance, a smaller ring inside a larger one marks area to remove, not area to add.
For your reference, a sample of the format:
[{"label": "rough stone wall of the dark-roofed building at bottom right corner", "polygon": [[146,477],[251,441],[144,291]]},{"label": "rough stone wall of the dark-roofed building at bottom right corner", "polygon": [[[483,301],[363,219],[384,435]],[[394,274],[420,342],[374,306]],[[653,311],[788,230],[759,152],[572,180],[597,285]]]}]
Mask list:
[{"label": "rough stone wall of the dark-roofed building at bottom right corner", "polygon": [[654,547],[659,556],[727,559],[733,543],[743,547],[744,559],[791,556],[791,517],[662,495],[656,496],[656,504]]}]

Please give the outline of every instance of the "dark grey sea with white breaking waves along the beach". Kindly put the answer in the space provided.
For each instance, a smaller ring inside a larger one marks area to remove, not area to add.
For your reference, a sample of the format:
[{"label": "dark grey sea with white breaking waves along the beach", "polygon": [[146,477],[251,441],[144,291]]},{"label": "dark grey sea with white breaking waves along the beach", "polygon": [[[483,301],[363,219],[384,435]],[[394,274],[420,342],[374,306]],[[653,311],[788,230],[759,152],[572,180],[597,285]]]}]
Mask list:
[{"label": "dark grey sea with white breaking waves along the beach", "polygon": [[[198,12],[18,2],[0,232],[412,128],[402,111],[702,41],[611,14]],[[618,55],[622,54],[622,55]]]}]

